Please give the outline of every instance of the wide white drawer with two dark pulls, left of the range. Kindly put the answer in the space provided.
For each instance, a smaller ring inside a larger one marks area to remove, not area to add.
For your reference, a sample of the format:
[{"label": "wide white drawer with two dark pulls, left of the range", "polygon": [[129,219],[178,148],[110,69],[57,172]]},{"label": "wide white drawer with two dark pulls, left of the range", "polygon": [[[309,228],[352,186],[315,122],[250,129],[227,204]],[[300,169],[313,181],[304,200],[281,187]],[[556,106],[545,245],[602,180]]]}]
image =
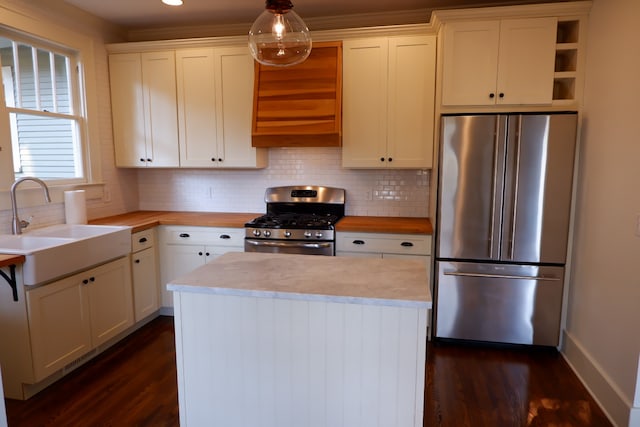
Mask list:
[{"label": "wide white drawer with two dark pulls, left of the range", "polygon": [[164,243],[244,247],[244,228],[166,226],[162,233]]}]

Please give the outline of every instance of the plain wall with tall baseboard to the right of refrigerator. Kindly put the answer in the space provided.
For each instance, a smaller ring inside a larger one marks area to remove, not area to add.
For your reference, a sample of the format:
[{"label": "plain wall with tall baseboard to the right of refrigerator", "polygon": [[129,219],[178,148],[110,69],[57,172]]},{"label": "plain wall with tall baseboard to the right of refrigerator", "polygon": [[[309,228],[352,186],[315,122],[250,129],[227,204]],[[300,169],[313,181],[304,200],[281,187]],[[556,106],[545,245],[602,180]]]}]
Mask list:
[{"label": "plain wall with tall baseboard to the right of refrigerator", "polygon": [[593,2],[564,349],[620,426],[640,400],[639,22],[638,0]]}]

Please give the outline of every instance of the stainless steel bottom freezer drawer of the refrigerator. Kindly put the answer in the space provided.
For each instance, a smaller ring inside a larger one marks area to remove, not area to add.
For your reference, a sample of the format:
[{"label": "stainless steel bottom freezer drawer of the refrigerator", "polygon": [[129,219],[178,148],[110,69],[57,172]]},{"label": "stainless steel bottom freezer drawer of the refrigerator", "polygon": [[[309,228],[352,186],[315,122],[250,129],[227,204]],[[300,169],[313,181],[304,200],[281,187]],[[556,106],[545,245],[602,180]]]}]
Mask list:
[{"label": "stainless steel bottom freezer drawer of the refrigerator", "polygon": [[563,267],[436,262],[435,336],[557,346]]}]

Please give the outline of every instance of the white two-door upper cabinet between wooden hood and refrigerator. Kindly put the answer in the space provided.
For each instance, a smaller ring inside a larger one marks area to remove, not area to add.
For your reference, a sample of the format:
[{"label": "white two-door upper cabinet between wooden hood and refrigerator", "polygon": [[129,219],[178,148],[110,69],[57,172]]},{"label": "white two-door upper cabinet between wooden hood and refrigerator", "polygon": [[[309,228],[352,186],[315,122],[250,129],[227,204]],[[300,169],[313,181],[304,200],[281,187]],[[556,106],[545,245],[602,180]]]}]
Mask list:
[{"label": "white two-door upper cabinet between wooden hood and refrigerator", "polygon": [[432,167],[435,61],[435,36],[344,41],[343,167]]}]

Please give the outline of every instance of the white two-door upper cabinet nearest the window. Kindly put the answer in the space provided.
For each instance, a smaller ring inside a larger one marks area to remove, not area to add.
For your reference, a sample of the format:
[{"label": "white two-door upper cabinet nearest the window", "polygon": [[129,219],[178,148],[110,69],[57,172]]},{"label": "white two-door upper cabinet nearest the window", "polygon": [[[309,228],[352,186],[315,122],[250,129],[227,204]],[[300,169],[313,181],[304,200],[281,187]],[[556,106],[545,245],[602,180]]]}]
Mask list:
[{"label": "white two-door upper cabinet nearest the window", "polygon": [[173,51],[109,56],[116,166],[178,166]]}]

